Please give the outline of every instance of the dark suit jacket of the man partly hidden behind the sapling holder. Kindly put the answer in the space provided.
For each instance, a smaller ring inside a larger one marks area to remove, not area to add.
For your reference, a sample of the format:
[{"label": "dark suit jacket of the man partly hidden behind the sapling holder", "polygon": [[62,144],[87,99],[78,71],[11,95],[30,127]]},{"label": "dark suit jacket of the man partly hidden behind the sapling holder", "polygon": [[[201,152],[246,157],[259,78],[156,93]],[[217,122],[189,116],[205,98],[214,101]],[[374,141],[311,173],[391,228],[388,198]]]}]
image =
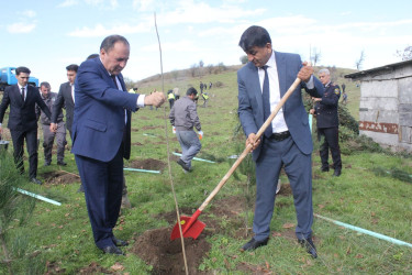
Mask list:
[{"label": "dark suit jacket of the man partly hidden behind the sapling holder", "polygon": [[64,82],[60,85],[60,89],[57,94],[57,99],[53,105],[52,122],[57,123],[62,108],[66,108],[66,128],[71,132],[73,116],[75,111],[75,102],[71,98],[71,86],[70,82]]}]

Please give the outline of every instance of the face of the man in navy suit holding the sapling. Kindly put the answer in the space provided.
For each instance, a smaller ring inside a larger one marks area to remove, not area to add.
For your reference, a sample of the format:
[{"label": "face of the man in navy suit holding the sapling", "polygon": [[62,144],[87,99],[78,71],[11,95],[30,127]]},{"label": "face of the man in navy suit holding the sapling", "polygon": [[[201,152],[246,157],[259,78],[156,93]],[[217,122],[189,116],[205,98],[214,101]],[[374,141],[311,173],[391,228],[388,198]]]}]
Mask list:
[{"label": "face of the man in navy suit holding the sapling", "polygon": [[130,55],[130,46],[123,42],[114,43],[113,48],[105,52],[103,48],[100,51],[100,58],[104,68],[111,75],[119,75],[127,64]]}]

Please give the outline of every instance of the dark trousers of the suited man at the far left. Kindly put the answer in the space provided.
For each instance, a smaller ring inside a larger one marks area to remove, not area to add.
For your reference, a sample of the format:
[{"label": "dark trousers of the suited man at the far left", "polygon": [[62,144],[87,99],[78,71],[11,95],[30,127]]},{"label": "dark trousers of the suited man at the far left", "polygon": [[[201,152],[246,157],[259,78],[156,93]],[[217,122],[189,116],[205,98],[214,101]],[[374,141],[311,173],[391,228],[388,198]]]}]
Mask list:
[{"label": "dark trousers of the suited man at the far left", "polygon": [[24,153],[24,139],[29,152],[29,177],[34,178],[37,176],[37,128],[30,131],[10,130],[11,140],[13,141],[13,156],[14,163],[21,174],[24,173],[23,153]]}]

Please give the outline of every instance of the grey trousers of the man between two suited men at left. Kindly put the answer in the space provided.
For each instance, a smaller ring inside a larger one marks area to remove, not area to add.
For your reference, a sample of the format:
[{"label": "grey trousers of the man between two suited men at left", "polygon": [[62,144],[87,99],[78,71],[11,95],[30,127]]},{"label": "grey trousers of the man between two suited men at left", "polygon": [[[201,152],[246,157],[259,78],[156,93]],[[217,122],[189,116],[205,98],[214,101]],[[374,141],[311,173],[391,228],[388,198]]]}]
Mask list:
[{"label": "grey trousers of the man between two suited men at left", "polygon": [[65,122],[57,123],[57,132],[51,131],[51,125],[42,124],[43,128],[43,147],[44,147],[44,161],[46,163],[52,162],[53,143],[56,138],[57,143],[57,162],[63,162],[65,158],[65,146],[66,142],[66,125]]}]

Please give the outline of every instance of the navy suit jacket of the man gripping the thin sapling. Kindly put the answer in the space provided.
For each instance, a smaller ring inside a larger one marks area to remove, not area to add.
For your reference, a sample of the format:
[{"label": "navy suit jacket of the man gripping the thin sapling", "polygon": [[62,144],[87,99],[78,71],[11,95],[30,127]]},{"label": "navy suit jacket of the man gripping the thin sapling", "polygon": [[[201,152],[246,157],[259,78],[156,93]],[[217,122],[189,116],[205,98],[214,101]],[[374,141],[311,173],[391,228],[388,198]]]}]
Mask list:
[{"label": "navy suit jacket of the man gripping the thin sapling", "polygon": [[123,91],[116,88],[100,58],[89,59],[80,65],[75,81],[76,106],[71,128],[74,154],[110,162],[123,141],[123,157],[130,157],[130,111],[137,110],[140,95],[129,94],[123,76],[120,74],[118,78]]}]

